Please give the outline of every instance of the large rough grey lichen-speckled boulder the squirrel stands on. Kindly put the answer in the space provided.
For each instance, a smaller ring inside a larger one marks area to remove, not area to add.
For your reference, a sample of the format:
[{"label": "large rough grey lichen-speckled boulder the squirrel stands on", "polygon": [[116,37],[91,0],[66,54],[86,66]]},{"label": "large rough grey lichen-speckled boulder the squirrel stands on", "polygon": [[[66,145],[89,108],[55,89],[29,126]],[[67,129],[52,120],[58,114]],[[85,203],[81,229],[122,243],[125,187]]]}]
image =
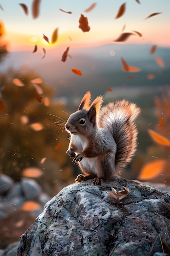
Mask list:
[{"label": "large rough grey lichen-speckled boulder the squirrel stands on", "polygon": [[[128,186],[121,201],[110,195]],[[170,247],[170,193],[117,177],[71,184],[20,237],[17,256],[163,256]],[[167,252],[168,253],[168,252]]]}]

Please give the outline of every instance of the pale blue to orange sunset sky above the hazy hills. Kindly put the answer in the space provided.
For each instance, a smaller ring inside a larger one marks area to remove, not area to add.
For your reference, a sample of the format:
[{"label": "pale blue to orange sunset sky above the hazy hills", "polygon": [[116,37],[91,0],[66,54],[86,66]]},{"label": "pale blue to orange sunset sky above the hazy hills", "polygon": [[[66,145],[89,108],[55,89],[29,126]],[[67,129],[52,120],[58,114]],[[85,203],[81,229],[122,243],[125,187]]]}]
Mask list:
[{"label": "pale blue to orange sunset sky above the hazy hills", "polygon": [[[115,19],[122,0],[98,0],[90,12],[84,12],[93,1],[86,0],[41,0],[40,14],[33,18],[31,5],[33,0],[2,0],[0,2],[0,21],[4,23],[4,42],[8,42],[10,51],[33,49],[35,43],[42,47],[56,47],[63,44],[72,47],[84,47],[114,43],[124,32],[139,31],[142,37],[130,36],[124,43],[150,43],[160,46],[170,46],[170,1],[169,0],[135,0],[126,1],[126,11],[123,16]],[[19,3],[24,3],[29,9],[25,15]],[[71,11],[72,14],[59,10]],[[145,20],[151,13],[161,12]],[[79,29],[81,13],[88,18],[91,27],[89,32]],[[58,28],[58,40],[55,45],[49,45],[53,31]]]}]

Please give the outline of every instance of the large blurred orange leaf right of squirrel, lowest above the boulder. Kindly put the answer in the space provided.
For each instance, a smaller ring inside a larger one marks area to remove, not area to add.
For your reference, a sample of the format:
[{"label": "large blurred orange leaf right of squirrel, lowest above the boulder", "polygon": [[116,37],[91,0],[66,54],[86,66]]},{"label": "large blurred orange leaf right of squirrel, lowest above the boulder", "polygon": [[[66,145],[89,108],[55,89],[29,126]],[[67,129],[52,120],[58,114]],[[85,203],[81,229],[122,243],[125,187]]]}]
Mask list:
[{"label": "large blurred orange leaf right of squirrel, lowest above the boulder", "polygon": [[143,166],[140,171],[139,180],[152,180],[163,172],[165,160],[154,160]]}]

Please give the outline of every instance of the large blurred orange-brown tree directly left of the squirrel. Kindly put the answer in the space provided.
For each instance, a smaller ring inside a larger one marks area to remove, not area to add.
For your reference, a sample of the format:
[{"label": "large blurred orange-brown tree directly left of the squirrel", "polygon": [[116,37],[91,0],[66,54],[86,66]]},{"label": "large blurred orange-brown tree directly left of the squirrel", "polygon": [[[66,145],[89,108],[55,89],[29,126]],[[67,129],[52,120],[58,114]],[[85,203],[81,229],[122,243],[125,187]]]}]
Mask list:
[{"label": "large blurred orange-brown tree directly left of the squirrel", "polygon": [[[42,168],[50,183],[69,180],[73,175],[66,154],[68,134],[62,133],[64,121],[58,134],[58,124],[52,124],[66,120],[68,114],[62,103],[53,103],[53,92],[34,71],[27,72],[23,67],[0,76],[0,99],[5,104],[4,112],[0,112],[0,171],[15,180],[29,166]],[[54,120],[48,120],[51,118]]]}]

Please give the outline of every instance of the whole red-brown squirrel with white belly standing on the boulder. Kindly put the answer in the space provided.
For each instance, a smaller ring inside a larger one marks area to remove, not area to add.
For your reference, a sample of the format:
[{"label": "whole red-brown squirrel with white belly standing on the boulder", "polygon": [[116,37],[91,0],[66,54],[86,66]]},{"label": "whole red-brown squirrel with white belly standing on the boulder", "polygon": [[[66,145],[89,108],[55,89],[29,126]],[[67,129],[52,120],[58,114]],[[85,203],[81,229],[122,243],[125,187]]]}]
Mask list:
[{"label": "whole red-brown squirrel with white belly standing on the boulder", "polygon": [[65,124],[71,135],[66,153],[84,173],[75,182],[93,178],[93,183],[100,185],[102,181],[115,180],[132,159],[138,133],[134,121],[140,109],[126,100],[110,102],[101,108],[102,96],[90,103],[89,91]]}]

